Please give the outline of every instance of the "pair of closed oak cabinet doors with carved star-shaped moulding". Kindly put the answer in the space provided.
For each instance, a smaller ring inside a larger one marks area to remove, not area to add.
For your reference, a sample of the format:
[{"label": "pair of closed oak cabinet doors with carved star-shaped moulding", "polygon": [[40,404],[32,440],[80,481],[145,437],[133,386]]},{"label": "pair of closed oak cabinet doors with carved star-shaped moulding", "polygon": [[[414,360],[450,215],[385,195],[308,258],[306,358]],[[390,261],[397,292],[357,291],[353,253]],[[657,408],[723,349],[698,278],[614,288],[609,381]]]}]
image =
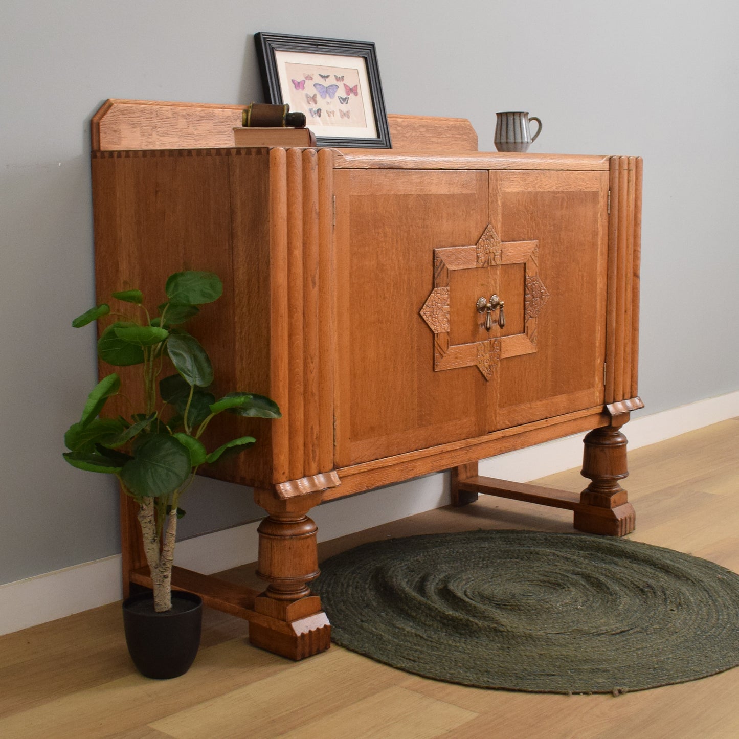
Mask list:
[{"label": "pair of closed oak cabinet doors with carved star-shaped moulding", "polygon": [[607,173],[347,170],[335,187],[337,466],[603,403]]}]

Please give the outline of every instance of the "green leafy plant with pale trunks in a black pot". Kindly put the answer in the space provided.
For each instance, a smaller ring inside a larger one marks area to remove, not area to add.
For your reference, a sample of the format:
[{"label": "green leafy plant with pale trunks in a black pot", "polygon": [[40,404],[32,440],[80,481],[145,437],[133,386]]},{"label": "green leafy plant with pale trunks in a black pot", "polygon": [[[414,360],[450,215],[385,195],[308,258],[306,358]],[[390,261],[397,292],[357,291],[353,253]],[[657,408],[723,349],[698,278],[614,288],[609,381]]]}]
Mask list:
[{"label": "green leafy plant with pale trunks in a black pot", "polygon": [[[141,365],[139,381],[123,392],[117,372],[103,377],[89,394],[80,420],[64,435],[69,449],[64,459],[69,464],[115,475],[123,492],[139,506],[137,517],[152,593],[126,599],[123,609],[129,652],[134,664],[149,677],[183,674],[192,664],[200,643],[198,596],[176,593],[175,607],[172,605],[177,520],[184,514],[180,498],[200,466],[243,452],[255,441],[254,437],[242,436],[208,452],[202,438],[208,424],[222,412],[259,418],[281,415],[276,403],[263,395],[229,392],[217,399],[208,390],[213,382],[210,358],[182,326],[199,313],[200,305],[217,300],[222,289],[214,273],[172,274],[165,286],[168,300],[159,305],[155,315],[145,307],[140,290],[113,293],[118,302],[133,307],[135,315],[115,315],[117,320],[103,330],[98,340],[98,357],[114,367]],[[78,316],[72,326],[79,328],[108,315],[114,316],[109,304],[101,304]],[[169,366],[175,372],[160,379]],[[115,418],[101,416],[106,401],[119,394],[129,406],[140,398],[140,405],[129,407],[124,415]],[[185,605],[180,604],[181,598]],[[183,621],[191,619],[193,623],[185,628],[191,635],[197,632],[197,643],[184,655],[182,652],[187,650],[181,649],[183,637],[175,636],[169,623],[176,616]],[[135,633],[141,621],[145,624],[141,627],[143,636]],[[144,644],[143,653],[138,653],[139,645],[132,642],[147,636],[154,643]],[[179,664],[171,668],[160,654],[168,644],[180,651],[176,657]]]}]

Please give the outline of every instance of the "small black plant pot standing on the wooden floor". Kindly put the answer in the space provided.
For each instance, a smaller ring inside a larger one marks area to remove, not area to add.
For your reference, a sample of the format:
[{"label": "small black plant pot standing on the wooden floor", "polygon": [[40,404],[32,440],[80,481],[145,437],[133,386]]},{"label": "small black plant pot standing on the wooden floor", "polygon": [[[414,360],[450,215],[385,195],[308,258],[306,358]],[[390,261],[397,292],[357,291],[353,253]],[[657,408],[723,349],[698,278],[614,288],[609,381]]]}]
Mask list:
[{"label": "small black plant pot standing on the wooden floor", "polygon": [[151,593],[123,601],[123,628],[137,670],[147,678],[166,680],[184,675],[200,647],[202,599],[172,591],[172,608],[154,610]]}]

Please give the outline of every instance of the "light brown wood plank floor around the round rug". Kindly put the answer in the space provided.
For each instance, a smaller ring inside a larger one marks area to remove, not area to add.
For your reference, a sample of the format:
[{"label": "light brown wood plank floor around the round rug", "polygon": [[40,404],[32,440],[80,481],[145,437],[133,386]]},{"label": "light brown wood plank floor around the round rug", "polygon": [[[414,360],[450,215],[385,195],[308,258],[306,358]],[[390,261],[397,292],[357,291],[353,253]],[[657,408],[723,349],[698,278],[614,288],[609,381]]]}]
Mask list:
[{"label": "light brown wood plank floor around the round rug", "polygon": [[[631,538],[739,572],[739,419],[637,449],[630,469]],[[585,486],[577,470],[539,482]],[[321,556],[370,539],[481,527],[572,531],[566,511],[486,497],[327,542]],[[246,582],[253,573],[228,576]],[[0,737],[739,737],[739,669],[618,698],[532,695],[424,680],[339,647],[293,663],[250,647],[247,633],[244,621],[208,610],[197,660],[173,681],[135,672],[118,604],[2,636]]]}]

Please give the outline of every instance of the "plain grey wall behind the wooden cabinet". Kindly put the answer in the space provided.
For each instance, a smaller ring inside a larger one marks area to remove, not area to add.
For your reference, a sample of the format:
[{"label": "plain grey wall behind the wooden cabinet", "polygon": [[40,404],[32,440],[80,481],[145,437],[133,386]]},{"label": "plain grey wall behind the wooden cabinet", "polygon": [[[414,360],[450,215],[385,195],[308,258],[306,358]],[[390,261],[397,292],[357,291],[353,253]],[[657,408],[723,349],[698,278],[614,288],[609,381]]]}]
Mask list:
[{"label": "plain grey wall behind the wooden cabinet", "polygon": [[[544,120],[532,151],[644,157],[641,395],[738,389],[734,0],[3,0],[0,583],[115,554],[113,486],[61,459],[95,380],[89,119],[106,98],[262,99],[253,33],[375,41],[389,112]],[[185,534],[253,515],[205,481]],[[193,515],[202,509],[202,515]]]}]

